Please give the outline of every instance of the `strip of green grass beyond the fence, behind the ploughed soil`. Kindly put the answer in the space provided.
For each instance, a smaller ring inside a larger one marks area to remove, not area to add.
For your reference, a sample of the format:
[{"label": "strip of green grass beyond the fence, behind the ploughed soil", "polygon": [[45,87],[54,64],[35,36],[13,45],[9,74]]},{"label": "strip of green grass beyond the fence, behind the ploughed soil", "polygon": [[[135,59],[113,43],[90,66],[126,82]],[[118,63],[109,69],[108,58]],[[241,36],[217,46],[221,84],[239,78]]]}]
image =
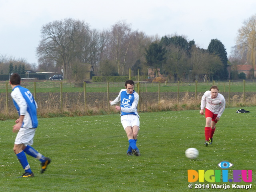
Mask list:
[{"label": "strip of green grass beyond the fence, behind the ploughed soil", "polygon": [[[59,81],[48,82],[36,82],[36,92],[60,92]],[[212,82],[199,82],[197,84],[197,92],[205,92],[209,90]],[[229,82],[215,82],[215,85],[219,87],[220,92],[228,92]],[[34,82],[22,82],[22,86],[28,88],[31,92],[34,92]],[[119,92],[121,88],[124,88],[123,82],[110,82],[109,92]],[[137,84],[135,85],[137,91]],[[195,92],[196,83],[180,83],[180,92]],[[230,82],[230,92],[256,92],[255,82]],[[8,92],[12,89],[8,85]],[[158,83],[140,83],[140,91],[142,92],[158,92]],[[178,83],[161,83],[160,92],[177,92]],[[6,83],[0,83],[0,93],[6,92]],[[62,92],[84,92],[83,87],[75,87],[74,83],[62,83]],[[107,92],[107,83],[86,83],[86,92]]]}]

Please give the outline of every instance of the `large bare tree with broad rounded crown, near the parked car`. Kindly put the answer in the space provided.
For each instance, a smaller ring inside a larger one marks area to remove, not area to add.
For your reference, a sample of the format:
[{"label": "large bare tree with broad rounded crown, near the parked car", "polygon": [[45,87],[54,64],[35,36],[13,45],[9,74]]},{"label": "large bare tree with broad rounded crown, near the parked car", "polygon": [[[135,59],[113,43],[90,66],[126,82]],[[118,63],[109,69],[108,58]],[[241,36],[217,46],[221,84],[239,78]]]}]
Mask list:
[{"label": "large bare tree with broad rounded crown, near the parked car", "polygon": [[84,36],[88,31],[88,24],[71,18],[42,26],[42,40],[36,49],[38,58],[54,60],[56,65],[63,66],[64,76],[71,78],[72,64],[84,51]]}]

